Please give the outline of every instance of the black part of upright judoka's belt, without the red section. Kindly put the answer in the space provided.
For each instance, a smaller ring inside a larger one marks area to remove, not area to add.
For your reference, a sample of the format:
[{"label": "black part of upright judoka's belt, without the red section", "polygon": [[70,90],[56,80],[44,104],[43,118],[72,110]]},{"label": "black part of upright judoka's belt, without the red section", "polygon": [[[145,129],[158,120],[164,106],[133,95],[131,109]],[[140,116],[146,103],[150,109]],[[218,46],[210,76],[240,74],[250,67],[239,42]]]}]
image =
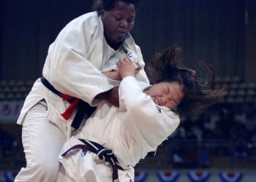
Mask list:
[{"label": "black part of upright judoka's belt, without the red section", "polygon": [[[53,93],[55,93],[56,95],[59,95],[60,97],[62,97],[62,93],[59,92],[58,90],[56,90],[53,85],[50,84],[50,82],[48,82],[47,79],[45,79],[44,76],[41,77],[41,82],[43,85],[45,85],[45,87],[48,88],[48,90],[52,91]],[[75,98],[69,99],[67,100],[69,103],[72,103],[72,101],[75,100]],[[95,111],[96,107],[91,107],[89,105],[89,103],[84,102],[83,100],[79,100],[78,103],[78,111],[75,114],[75,118],[72,121],[71,126],[74,127],[75,129],[78,129],[80,127],[80,124],[83,120],[83,117],[85,116],[85,114],[87,115],[87,118],[89,118],[89,116],[91,116],[91,114],[93,114],[93,112]]]}]

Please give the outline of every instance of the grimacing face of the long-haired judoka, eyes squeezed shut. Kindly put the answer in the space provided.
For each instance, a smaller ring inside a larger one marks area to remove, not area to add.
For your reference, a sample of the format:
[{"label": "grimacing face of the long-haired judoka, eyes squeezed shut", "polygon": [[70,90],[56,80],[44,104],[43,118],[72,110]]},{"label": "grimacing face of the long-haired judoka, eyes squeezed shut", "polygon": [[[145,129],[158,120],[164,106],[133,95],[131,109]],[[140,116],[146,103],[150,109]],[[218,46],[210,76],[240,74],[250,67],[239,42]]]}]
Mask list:
[{"label": "grimacing face of the long-haired judoka, eyes squeezed shut", "polygon": [[176,108],[184,98],[184,91],[178,82],[159,82],[147,90],[146,95],[150,95],[154,103],[167,108]]}]

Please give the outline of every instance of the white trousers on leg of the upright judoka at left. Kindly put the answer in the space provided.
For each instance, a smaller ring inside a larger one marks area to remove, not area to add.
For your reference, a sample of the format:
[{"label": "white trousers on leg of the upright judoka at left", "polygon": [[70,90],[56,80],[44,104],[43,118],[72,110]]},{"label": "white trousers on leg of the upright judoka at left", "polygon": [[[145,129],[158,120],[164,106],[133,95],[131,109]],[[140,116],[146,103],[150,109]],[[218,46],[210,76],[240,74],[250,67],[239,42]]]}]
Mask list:
[{"label": "white trousers on leg of the upright judoka at left", "polygon": [[56,182],[58,157],[66,135],[48,120],[44,101],[37,103],[26,114],[22,127],[22,142],[26,167],[20,170],[15,182]]}]

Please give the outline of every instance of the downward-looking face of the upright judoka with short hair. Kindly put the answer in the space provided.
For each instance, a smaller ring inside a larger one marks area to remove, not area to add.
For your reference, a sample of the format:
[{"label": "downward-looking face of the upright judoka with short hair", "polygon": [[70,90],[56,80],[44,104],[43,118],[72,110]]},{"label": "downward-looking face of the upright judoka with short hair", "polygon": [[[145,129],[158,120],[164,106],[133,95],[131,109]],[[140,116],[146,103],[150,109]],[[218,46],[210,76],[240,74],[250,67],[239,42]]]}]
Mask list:
[{"label": "downward-looking face of the upright judoka with short hair", "polygon": [[105,39],[110,46],[119,46],[124,37],[132,30],[135,22],[135,5],[116,1],[110,11],[102,10],[100,15],[104,25]]}]

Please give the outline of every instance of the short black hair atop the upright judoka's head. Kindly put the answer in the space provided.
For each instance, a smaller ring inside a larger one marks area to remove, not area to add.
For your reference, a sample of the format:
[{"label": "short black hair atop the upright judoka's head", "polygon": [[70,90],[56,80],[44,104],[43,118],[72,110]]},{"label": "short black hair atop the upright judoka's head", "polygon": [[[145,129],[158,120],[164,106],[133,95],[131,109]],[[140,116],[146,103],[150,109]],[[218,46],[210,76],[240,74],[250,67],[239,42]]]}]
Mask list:
[{"label": "short black hair atop the upright judoka's head", "polygon": [[102,9],[110,11],[115,7],[116,2],[123,1],[127,4],[134,4],[137,10],[141,0],[94,0],[92,9],[96,12],[100,12]]}]

